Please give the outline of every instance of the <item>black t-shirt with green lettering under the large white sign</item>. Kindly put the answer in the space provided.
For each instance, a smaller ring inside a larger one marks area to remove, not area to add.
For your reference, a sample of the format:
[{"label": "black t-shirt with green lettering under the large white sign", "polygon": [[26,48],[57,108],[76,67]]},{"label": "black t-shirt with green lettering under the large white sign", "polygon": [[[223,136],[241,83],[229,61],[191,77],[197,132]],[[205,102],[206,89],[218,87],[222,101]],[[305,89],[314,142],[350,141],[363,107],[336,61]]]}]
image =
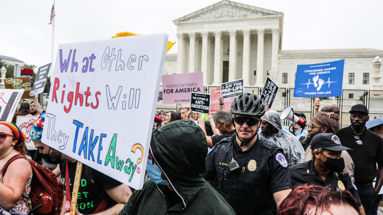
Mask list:
[{"label": "black t-shirt with green lettering under the large white sign", "polygon": [[[74,181],[76,167],[77,162],[68,162],[70,197],[72,197],[72,181]],[[64,195],[66,196],[65,162],[60,164],[60,170],[61,179],[63,181],[62,187],[64,189]],[[108,198],[108,195],[105,191],[113,187],[119,186],[120,184],[122,183],[116,181],[113,178],[110,178],[109,176],[106,176],[103,173],[100,173],[95,169],[90,168],[87,165],[82,165],[79,196],[77,198],[77,209],[82,214],[92,214],[103,199],[108,200],[108,205],[106,206],[106,208],[112,207],[116,204],[116,202],[113,199]]]}]

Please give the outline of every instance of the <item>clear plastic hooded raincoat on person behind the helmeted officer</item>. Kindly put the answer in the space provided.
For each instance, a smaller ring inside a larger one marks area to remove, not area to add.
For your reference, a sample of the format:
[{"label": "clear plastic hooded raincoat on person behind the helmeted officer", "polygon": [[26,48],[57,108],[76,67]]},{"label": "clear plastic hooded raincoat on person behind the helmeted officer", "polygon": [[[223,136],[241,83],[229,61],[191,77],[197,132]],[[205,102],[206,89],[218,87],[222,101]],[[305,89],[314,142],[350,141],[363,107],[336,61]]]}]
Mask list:
[{"label": "clear plastic hooded raincoat on person behind the helmeted officer", "polygon": [[276,134],[263,134],[259,132],[261,137],[273,141],[278,147],[283,149],[283,155],[285,155],[289,166],[301,163],[304,160],[304,150],[299,140],[290,132],[282,128],[281,118],[277,111],[270,110],[265,113],[262,120],[267,121],[278,132]]}]

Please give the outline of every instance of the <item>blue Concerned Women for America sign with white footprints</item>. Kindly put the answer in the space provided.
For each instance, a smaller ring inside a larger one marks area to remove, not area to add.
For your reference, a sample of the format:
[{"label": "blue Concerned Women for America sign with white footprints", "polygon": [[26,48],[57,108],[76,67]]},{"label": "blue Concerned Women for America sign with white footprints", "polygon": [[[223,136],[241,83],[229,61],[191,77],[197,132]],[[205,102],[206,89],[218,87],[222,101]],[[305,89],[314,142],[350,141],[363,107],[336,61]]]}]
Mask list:
[{"label": "blue Concerned Women for America sign with white footprints", "polygon": [[298,65],[294,97],[342,95],[344,59],[321,64]]}]

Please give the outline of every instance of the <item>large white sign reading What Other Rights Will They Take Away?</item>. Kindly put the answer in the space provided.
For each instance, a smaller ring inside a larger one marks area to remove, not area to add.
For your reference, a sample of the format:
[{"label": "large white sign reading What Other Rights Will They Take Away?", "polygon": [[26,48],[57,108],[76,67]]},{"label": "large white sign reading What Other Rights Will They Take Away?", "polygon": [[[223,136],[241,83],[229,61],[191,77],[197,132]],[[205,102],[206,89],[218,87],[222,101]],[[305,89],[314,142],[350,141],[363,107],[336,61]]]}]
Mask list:
[{"label": "large white sign reading What Other Rights Will They Take Away?", "polygon": [[142,189],[167,40],[154,34],[61,44],[41,141]]}]

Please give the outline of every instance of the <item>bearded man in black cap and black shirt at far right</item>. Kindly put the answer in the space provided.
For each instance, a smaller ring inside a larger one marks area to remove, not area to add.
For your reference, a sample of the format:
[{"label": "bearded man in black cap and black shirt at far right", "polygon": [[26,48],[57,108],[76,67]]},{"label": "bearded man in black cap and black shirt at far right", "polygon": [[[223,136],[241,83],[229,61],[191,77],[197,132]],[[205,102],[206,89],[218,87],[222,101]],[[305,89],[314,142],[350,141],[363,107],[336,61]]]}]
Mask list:
[{"label": "bearded man in black cap and black shirt at far right", "polygon": [[[355,163],[355,184],[368,214],[383,184],[383,139],[366,129],[365,124],[369,119],[366,106],[356,104],[349,112],[351,125],[338,130],[336,134],[345,147],[352,149],[349,153]],[[373,187],[375,177],[376,183]]]}]

